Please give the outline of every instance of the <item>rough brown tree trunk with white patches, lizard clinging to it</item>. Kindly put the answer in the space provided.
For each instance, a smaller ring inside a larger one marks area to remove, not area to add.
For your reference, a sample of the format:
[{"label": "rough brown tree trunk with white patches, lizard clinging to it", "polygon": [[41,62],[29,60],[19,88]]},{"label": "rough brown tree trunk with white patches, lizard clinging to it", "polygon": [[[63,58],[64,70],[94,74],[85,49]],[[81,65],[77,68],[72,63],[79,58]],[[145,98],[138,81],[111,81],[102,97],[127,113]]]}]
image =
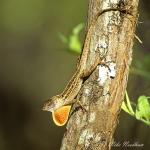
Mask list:
[{"label": "rough brown tree trunk with white patches, lizard clinging to it", "polygon": [[[100,54],[103,64],[116,66],[110,75],[110,68],[99,65],[85,80],[77,96],[85,110],[74,104],[61,150],[111,149],[132,60],[137,7],[138,0],[89,1],[87,30],[98,12],[108,8],[112,11],[100,15],[95,24],[88,63],[92,64]],[[104,82],[103,69],[107,70]]]}]

